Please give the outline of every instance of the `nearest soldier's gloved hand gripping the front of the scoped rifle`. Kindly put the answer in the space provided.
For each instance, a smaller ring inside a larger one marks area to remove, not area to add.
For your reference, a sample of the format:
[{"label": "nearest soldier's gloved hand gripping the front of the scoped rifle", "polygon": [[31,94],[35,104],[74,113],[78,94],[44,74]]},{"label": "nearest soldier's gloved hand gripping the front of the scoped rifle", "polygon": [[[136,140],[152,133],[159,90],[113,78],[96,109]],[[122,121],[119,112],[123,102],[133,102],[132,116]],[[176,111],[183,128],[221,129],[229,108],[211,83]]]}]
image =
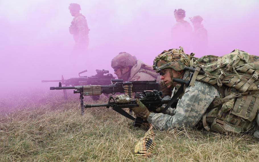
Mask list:
[{"label": "nearest soldier's gloved hand gripping the front of the scoped rifle", "polygon": [[142,104],[139,99],[135,99],[135,102],[138,104],[138,107],[132,108],[132,111],[137,117],[147,120],[147,117],[151,112],[149,112],[147,107]]}]

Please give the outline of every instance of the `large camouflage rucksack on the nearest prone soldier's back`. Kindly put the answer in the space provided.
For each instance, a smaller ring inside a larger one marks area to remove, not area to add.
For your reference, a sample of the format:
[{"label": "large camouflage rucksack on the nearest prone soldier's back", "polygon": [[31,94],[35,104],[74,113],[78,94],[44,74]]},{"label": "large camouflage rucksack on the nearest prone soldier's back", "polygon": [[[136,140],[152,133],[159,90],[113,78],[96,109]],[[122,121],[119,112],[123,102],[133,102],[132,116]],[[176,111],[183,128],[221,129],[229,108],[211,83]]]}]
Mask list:
[{"label": "large camouflage rucksack on the nearest prone soldier's back", "polygon": [[[215,98],[213,108],[203,116],[205,129],[235,134],[252,131],[259,110],[259,57],[235,49],[221,57],[202,56],[192,65],[205,72],[194,73],[193,82],[207,82],[221,89],[221,98]],[[211,123],[210,128],[207,123]]]}]

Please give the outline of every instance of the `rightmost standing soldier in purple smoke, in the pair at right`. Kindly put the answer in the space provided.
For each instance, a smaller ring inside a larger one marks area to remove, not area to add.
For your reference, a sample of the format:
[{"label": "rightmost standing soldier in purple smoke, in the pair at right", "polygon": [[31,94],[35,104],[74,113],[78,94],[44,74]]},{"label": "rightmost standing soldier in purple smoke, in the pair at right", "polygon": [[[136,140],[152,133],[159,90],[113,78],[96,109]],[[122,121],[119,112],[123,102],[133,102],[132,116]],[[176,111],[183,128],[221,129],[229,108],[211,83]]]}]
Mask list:
[{"label": "rightmost standing soldier in purple smoke, in the pair at right", "polygon": [[192,52],[206,55],[208,48],[208,34],[207,30],[202,25],[202,17],[194,16],[190,18],[194,27],[193,39],[192,39]]}]

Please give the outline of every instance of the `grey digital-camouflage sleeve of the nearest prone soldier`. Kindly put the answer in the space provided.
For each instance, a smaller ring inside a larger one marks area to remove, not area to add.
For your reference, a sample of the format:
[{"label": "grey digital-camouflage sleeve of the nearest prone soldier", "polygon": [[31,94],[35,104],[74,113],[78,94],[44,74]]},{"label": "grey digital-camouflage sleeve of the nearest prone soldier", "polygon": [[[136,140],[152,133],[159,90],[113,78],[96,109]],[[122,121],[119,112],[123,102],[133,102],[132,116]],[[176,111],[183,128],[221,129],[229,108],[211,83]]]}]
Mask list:
[{"label": "grey digital-camouflage sleeve of the nearest prone soldier", "polygon": [[216,96],[219,96],[219,92],[214,86],[196,81],[194,86],[186,88],[182,98],[178,101],[174,116],[151,113],[147,121],[159,130],[173,127],[180,129],[183,126],[193,128]]}]

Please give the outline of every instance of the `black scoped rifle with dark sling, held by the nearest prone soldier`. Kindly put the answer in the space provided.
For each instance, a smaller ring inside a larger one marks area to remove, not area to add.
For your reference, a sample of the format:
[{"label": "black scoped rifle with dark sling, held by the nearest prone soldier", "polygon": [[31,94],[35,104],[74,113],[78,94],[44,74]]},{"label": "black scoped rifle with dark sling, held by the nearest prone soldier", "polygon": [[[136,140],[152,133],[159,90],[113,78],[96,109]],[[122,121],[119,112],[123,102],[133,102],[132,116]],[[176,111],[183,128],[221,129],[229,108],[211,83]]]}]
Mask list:
[{"label": "black scoped rifle with dark sling, held by the nearest prone soldier", "polygon": [[[163,104],[167,104],[170,99],[162,99],[162,92],[158,90],[145,90],[140,94],[140,96],[136,96],[138,94],[135,94],[135,98],[139,98],[139,100],[147,107],[147,109],[150,112],[156,112],[156,109],[161,107]],[[178,100],[176,100],[171,106],[174,108],[177,105]],[[125,116],[126,118],[129,118],[134,121],[133,125],[136,126],[136,124],[140,123],[147,123],[146,120],[143,120],[139,117],[134,118],[130,114],[128,114],[125,110],[122,108],[134,108],[137,107],[137,103],[135,102],[135,99],[130,98],[127,94],[123,95],[117,95],[115,99],[110,96],[107,104],[86,104],[84,105],[84,108],[93,108],[93,107],[112,107],[112,110],[120,113],[121,115]]]}]

